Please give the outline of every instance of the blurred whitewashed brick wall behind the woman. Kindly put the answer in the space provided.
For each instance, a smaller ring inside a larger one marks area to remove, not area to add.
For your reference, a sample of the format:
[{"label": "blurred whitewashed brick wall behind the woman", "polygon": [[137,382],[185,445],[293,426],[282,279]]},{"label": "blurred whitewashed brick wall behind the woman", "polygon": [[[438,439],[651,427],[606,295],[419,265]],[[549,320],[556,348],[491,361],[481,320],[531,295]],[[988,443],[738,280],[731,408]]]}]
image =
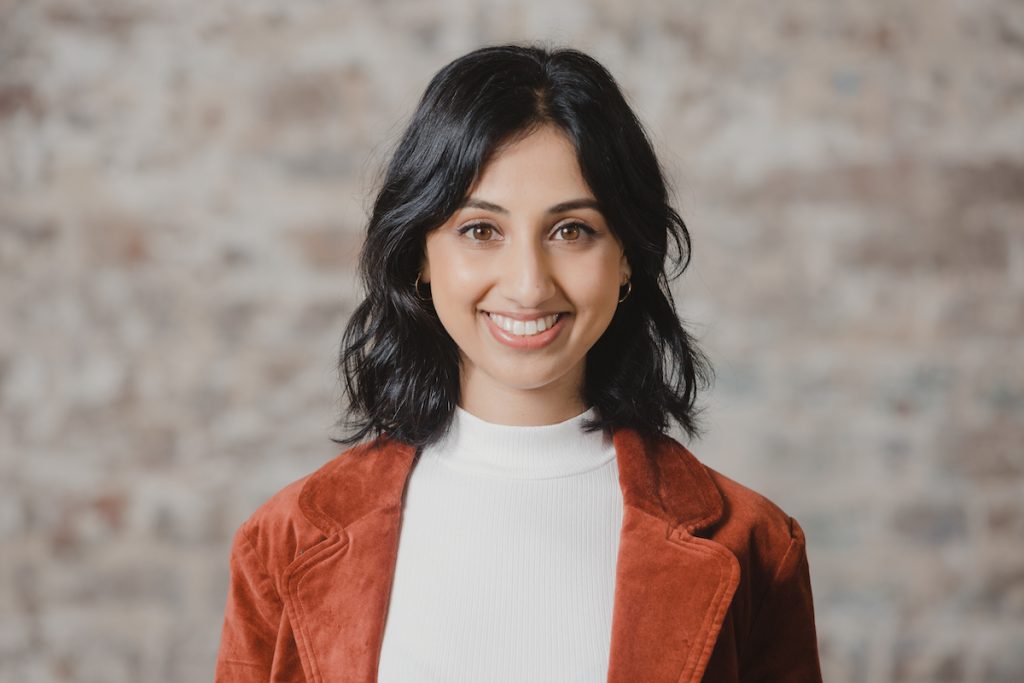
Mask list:
[{"label": "blurred whitewashed brick wall behind the woman", "polygon": [[337,454],[381,164],[481,44],[591,52],[694,240],[691,449],[804,525],[827,681],[1024,680],[1024,4],[0,2],[0,680],[210,680]]}]

